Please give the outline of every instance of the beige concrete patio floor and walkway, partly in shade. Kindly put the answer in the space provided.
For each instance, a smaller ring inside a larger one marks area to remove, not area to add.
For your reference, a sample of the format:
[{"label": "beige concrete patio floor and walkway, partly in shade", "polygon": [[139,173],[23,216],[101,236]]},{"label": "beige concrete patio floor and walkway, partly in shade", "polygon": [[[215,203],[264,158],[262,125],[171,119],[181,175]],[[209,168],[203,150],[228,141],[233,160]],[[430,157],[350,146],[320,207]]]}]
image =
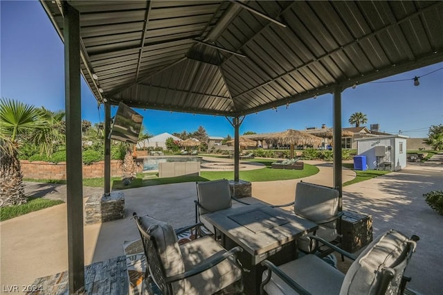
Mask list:
[{"label": "beige concrete patio floor and walkway, partly in shade", "polygon": [[[401,172],[343,188],[344,208],[372,214],[374,235],[392,228],[420,236],[407,274],[413,278],[408,287],[422,294],[440,294],[443,288],[443,216],[422,197],[430,190],[443,190],[443,154],[434,157],[429,163],[408,163]],[[330,164],[307,163],[317,165],[320,172],[303,181],[332,185]],[[354,172],[343,170],[343,182],[353,177]],[[298,181],[254,182],[253,196],[271,204],[291,202]],[[89,190],[84,192],[86,196]],[[193,182],[132,188],[124,193],[125,219],[84,226],[85,265],[123,255],[123,242],[139,238],[130,218],[134,211],[174,227],[195,222]],[[66,204],[0,222],[0,231],[1,285],[29,285],[35,278],[67,269]]]}]

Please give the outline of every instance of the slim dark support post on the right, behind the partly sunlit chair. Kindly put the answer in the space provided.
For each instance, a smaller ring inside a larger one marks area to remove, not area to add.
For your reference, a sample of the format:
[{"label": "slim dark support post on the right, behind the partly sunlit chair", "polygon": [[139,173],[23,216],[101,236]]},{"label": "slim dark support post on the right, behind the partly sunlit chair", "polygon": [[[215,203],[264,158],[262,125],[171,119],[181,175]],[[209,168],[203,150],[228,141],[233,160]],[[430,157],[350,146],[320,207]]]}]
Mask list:
[{"label": "slim dark support post on the right, behind the partly sunlit chair", "polygon": [[334,187],[340,193],[338,197],[338,211],[343,210],[343,179],[342,179],[342,159],[341,159],[341,87],[334,89]]}]

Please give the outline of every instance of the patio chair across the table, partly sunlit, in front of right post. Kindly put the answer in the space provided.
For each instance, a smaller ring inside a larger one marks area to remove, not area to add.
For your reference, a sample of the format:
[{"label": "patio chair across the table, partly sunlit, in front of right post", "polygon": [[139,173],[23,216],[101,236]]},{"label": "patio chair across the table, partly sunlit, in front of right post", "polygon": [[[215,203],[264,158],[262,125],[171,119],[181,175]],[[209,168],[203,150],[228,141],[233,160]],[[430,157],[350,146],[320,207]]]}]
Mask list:
[{"label": "patio chair across the table, partly sunlit, in front of right post", "polygon": [[[343,212],[338,212],[338,195],[334,188],[300,181],[294,202],[273,207],[293,206],[294,214],[318,224],[314,235],[332,242],[338,236],[337,220],[343,215]],[[298,239],[298,249],[311,253],[320,250],[320,244],[309,236],[303,236]]]}]

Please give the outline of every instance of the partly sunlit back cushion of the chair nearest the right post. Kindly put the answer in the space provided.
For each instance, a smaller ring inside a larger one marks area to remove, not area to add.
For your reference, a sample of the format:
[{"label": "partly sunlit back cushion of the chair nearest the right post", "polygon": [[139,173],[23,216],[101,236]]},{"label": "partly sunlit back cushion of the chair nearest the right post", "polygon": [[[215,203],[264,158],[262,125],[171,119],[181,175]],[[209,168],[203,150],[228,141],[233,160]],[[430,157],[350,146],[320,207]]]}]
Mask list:
[{"label": "partly sunlit back cushion of the chair nearest the right post", "polygon": [[294,213],[314,222],[325,220],[338,212],[338,190],[299,182],[296,186]]}]

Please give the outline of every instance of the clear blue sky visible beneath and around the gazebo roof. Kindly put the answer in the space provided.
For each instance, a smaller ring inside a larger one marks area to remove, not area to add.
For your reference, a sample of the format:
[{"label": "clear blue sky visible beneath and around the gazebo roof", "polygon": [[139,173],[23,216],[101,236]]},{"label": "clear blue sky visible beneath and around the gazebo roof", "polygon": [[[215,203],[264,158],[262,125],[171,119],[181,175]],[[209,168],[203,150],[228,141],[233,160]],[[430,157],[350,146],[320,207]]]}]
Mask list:
[{"label": "clear blue sky visible beneath and around the gazebo roof", "polygon": [[[0,96],[13,98],[37,107],[64,109],[63,44],[42,6],[37,1],[0,1],[1,59]],[[370,124],[379,124],[381,131],[410,137],[426,137],[431,125],[443,123],[443,63],[426,66],[400,75],[361,84],[342,94],[343,127],[350,115],[361,111]],[[426,75],[427,73],[431,73]],[[413,86],[415,76],[419,87]],[[402,82],[383,82],[411,79]],[[332,94],[304,100],[277,111],[261,111],[246,116],[240,134],[280,132],[305,129],[326,124],[332,127]],[[112,112],[116,107],[112,108]],[[199,125],[209,135],[233,136],[233,127],[219,116],[170,113],[136,109],[144,116],[143,124],[150,134],[162,132],[193,132]],[[104,118],[89,87],[82,81],[82,118],[96,123]]]}]

